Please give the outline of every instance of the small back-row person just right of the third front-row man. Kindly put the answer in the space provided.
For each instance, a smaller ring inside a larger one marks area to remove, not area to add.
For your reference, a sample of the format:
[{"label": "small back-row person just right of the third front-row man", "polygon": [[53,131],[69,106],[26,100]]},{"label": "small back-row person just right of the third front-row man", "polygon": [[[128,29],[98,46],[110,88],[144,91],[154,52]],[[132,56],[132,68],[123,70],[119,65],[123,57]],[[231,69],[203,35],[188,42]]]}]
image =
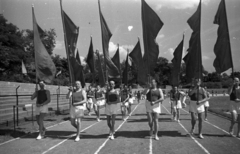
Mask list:
[{"label": "small back-row person just right of the third front-row man", "polygon": [[127,109],[129,107],[129,95],[128,95],[128,89],[127,85],[124,85],[122,91],[121,91],[121,112],[122,112],[122,119],[126,120],[127,115]]}]

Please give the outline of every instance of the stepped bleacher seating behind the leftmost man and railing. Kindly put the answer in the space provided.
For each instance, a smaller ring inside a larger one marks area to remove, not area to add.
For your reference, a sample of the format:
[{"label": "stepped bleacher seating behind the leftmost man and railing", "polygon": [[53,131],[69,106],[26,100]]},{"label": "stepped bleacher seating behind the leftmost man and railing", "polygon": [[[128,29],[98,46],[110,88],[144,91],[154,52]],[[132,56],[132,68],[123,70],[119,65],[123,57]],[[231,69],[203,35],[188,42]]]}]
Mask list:
[{"label": "stepped bleacher seating behind the leftmost man and railing", "polygon": [[[19,87],[17,89],[17,87]],[[19,119],[31,117],[31,107],[26,107],[27,104],[33,104],[33,111],[35,111],[36,99],[31,100],[31,95],[35,91],[35,84],[31,83],[17,83],[17,82],[4,82],[0,81],[0,124],[13,121],[13,106],[17,104],[19,107]],[[59,86],[46,85],[46,89],[50,90],[51,103],[48,105],[50,112],[57,110],[57,97],[59,102],[59,110],[69,109],[69,102],[66,99],[68,87],[60,86],[59,95],[57,90]],[[16,93],[17,89],[17,93]],[[18,97],[16,96],[18,94]],[[35,112],[33,112],[35,114]]]}]

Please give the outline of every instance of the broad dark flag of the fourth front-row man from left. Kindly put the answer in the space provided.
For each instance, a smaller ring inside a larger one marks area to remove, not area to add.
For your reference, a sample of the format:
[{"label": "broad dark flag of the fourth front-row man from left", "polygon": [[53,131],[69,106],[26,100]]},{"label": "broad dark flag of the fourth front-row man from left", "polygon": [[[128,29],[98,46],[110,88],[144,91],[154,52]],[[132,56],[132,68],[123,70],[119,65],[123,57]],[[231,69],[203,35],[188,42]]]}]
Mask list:
[{"label": "broad dark flag of the fourth front-row man from left", "polygon": [[153,72],[158,59],[159,49],[155,39],[162,26],[163,22],[158,15],[142,0],[143,59],[144,66],[147,67],[147,74]]}]

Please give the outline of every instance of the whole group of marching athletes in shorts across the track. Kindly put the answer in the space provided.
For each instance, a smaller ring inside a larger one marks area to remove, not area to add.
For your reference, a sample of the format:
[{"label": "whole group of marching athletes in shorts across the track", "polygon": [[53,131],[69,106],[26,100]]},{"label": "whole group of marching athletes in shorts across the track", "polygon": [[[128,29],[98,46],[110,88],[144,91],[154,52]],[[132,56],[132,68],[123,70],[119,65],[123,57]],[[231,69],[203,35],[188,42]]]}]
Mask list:
[{"label": "whole group of marching athletes in shorts across the track", "polygon": [[[45,136],[46,128],[44,127],[44,117],[48,112],[48,103],[51,102],[50,91],[45,89],[45,83],[39,82],[40,89],[36,88],[31,99],[36,99],[36,119],[39,125],[39,135],[36,139],[42,139]],[[234,78],[233,85],[229,88],[228,93],[230,95],[230,112],[232,115],[231,125],[229,128],[229,134],[233,135],[233,126],[238,123],[237,137],[240,137],[240,86],[239,79]],[[183,91],[178,86],[172,86],[172,90],[169,91],[169,100],[171,104],[172,120],[180,122],[180,109],[189,106],[189,113],[191,115],[190,134],[193,135],[195,124],[198,120],[198,137],[203,139],[202,135],[202,123],[203,117],[207,121],[207,112],[209,107],[210,93],[206,87],[201,87],[201,79],[194,79],[192,86],[188,91]],[[115,119],[117,110],[120,107],[122,113],[122,120],[126,121],[127,117],[131,115],[132,105],[140,103],[140,100],[145,100],[146,116],[149,125],[149,136],[155,140],[159,140],[158,137],[158,119],[161,113],[161,104],[165,99],[164,92],[161,88],[158,88],[157,81],[151,80],[150,85],[144,90],[133,92],[131,86],[124,85],[119,89],[115,88],[115,82],[110,81],[106,83],[106,86],[101,88],[97,85],[95,88],[91,85],[87,90],[81,87],[80,81],[75,82],[75,86],[69,87],[67,99],[70,101],[70,122],[73,127],[77,129],[77,135],[75,141],[80,140],[81,122],[84,117],[85,110],[88,111],[88,115],[91,115],[91,111],[94,110],[96,120],[100,119],[100,107],[105,107],[105,115],[107,119],[107,125],[109,127],[109,138],[114,139],[115,135]],[[189,99],[189,103],[185,100]]]}]

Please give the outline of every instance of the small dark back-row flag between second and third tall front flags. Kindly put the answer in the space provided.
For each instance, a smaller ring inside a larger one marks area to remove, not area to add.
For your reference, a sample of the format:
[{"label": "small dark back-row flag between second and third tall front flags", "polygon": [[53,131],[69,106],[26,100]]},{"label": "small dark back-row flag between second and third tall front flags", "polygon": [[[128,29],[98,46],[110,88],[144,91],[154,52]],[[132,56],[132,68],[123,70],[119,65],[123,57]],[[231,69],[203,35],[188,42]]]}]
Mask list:
[{"label": "small dark back-row flag between second and third tall front flags", "polygon": [[94,58],[92,37],[91,37],[91,41],[90,41],[90,46],[89,46],[86,62],[90,68],[91,73],[94,75],[95,74],[95,58]]}]

